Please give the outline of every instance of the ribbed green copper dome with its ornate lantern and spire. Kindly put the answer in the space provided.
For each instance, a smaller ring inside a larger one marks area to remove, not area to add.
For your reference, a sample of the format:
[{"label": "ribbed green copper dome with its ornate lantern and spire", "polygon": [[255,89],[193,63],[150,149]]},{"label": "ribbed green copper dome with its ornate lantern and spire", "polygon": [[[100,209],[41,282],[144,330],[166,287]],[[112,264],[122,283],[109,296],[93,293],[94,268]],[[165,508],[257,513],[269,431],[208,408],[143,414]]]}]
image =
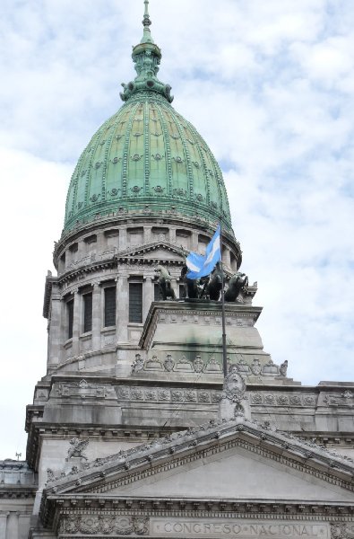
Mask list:
[{"label": "ribbed green copper dome with its ornate lantern and spire", "polygon": [[142,42],[133,49],[137,76],[122,84],[125,104],[91,138],[73,172],[65,230],[95,216],[118,213],[218,221],[231,230],[220,167],[194,126],[170,105],[170,86],[156,77],[160,49],[153,43],[145,0]]}]

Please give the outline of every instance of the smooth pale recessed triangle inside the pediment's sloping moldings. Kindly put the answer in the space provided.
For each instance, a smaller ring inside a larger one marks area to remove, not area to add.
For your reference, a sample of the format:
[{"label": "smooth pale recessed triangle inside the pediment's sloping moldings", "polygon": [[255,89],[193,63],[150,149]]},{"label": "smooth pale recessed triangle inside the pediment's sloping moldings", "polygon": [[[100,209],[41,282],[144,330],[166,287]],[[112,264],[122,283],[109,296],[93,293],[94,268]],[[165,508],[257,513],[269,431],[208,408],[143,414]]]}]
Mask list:
[{"label": "smooth pale recessed triangle inside the pediment's sloping moldings", "polygon": [[287,464],[279,464],[242,446],[214,455],[200,455],[183,466],[172,467],[108,493],[139,498],[353,500],[352,492],[340,491],[324,481],[314,480],[310,473],[299,473]]}]

